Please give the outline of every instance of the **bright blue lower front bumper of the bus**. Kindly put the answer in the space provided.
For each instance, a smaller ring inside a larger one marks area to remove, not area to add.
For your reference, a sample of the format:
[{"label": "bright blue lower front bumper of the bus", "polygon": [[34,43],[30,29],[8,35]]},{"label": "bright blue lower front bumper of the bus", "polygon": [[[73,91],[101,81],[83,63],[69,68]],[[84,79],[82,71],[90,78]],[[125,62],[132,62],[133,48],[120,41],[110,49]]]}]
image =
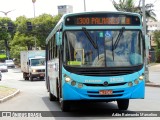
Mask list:
[{"label": "bright blue lower front bumper of the bus", "polygon": [[[76,88],[67,83],[63,85],[63,100],[95,100],[109,101],[117,99],[143,99],[145,93],[145,82],[132,87],[117,87],[112,89],[111,95],[100,95],[99,91],[104,90],[101,87],[95,88]],[[111,90],[106,88],[105,90]]]}]

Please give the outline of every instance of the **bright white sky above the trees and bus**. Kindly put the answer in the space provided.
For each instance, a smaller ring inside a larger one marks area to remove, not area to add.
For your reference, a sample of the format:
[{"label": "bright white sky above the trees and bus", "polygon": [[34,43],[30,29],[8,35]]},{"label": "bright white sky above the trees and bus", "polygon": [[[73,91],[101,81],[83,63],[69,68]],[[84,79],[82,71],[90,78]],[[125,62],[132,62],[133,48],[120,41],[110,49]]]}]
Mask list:
[{"label": "bright white sky above the trees and bus", "polygon": [[[111,0],[85,0],[86,11],[116,11]],[[116,0],[115,0],[116,1]],[[117,0],[119,1],[119,0]],[[135,0],[136,1],[136,0]],[[146,3],[154,3],[155,13],[160,21],[160,0],[145,0]],[[72,5],[73,12],[84,11],[84,0],[36,0],[35,16],[43,13],[57,15],[59,5]],[[7,17],[16,20],[19,16],[27,18],[34,17],[34,7],[32,0],[0,0],[0,11],[8,12]],[[0,12],[0,17],[5,17],[4,13]]]}]

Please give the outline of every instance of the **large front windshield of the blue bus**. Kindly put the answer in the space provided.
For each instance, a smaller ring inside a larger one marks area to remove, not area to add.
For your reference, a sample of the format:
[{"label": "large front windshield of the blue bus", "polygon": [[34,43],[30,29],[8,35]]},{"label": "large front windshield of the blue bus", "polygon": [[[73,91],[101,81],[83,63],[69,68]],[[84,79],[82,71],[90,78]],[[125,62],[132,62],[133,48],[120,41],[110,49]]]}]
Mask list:
[{"label": "large front windshield of the blue bus", "polygon": [[120,67],[143,64],[140,30],[83,30],[64,34],[64,64],[76,67]]}]

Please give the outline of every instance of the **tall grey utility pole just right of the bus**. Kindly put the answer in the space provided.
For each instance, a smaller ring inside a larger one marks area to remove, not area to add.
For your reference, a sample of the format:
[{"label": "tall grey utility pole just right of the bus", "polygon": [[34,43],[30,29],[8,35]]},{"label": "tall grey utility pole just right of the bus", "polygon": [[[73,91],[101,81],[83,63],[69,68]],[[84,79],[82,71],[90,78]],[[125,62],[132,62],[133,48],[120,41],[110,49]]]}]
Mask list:
[{"label": "tall grey utility pole just right of the bus", "polygon": [[[142,0],[142,14],[143,14],[143,33],[146,41],[146,12],[145,12],[145,0]],[[149,81],[149,70],[148,70],[148,54],[149,48],[146,46],[146,58],[145,58],[145,81]]]}]

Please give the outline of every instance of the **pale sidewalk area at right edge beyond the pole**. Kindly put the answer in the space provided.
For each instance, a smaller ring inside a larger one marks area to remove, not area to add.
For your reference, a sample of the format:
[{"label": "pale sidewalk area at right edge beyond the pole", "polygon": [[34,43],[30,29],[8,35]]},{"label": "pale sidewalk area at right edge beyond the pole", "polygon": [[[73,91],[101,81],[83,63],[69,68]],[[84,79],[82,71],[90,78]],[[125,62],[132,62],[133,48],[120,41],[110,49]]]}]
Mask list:
[{"label": "pale sidewalk area at right edge beyond the pole", "polygon": [[149,82],[146,86],[160,87],[160,63],[150,64],[149,67]]}]

